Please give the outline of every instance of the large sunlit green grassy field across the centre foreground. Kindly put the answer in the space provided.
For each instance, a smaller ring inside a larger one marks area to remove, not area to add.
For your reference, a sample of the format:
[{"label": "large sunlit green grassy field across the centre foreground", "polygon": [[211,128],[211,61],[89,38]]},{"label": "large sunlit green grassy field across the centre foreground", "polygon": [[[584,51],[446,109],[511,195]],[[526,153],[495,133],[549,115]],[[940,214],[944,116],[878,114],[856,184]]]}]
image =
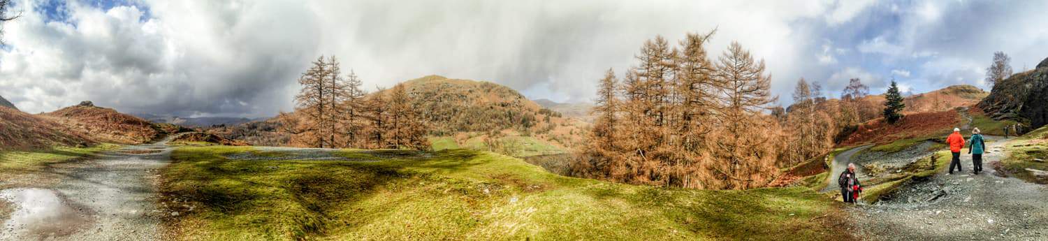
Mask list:
[{"label": "large sunlit green grassy field across the centre foreground", "polygon": [[[184,240],[850,240],[807,188],[700,191],[563,177],[489,152],[374,161],[230,160],[183,147],[162,170]],[[397,152],[397,151],[388,151]],[[177,202],[176,202],[177,201]],[[192,206],[190,211],[188,206]]]}]

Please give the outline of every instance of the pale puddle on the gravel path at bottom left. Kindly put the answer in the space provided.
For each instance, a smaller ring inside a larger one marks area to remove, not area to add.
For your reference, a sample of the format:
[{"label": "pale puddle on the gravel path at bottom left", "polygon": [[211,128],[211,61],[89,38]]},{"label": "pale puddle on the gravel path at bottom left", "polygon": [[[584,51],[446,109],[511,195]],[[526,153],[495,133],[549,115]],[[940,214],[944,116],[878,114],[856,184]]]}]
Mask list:
[{"label": "pale puddle on the gravel path at bottom left", "polygon": [[86,209],[69,205],[52,190],[8,189],[0,191],[0,199],[14,210],[0,238],[62,237],[90,222]]}]

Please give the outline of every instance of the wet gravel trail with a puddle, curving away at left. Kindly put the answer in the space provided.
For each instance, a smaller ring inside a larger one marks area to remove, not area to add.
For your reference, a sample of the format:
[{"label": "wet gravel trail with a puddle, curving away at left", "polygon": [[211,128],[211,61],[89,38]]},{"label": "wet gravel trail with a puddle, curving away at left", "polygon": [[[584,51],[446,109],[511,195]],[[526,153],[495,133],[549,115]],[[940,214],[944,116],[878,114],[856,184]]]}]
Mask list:
[{"label": "wet gravel trail with a puddle, curving away at left", "polygon": [[0,240],[158,240],[155,171],[171,161],[168,137],[156,144],[101,153],[46,188],[8,189],[0,198],[15,206]]}]

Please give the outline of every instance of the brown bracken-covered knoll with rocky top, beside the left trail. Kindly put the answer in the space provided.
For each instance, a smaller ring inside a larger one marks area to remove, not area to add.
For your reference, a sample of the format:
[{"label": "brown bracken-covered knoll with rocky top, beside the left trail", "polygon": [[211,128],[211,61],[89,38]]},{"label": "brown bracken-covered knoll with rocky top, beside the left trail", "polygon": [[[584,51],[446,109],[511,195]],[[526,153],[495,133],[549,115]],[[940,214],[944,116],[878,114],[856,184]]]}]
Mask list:
[{"label": "brown bracken-covered knoll with rocky top, beside the left trail", "polygon": [[61,124],[66,130],[86,133],[91,139],[102,143],[143,144],[168,134],[166,131],[179,130],[90,104],[62,108],[42,117]]}]

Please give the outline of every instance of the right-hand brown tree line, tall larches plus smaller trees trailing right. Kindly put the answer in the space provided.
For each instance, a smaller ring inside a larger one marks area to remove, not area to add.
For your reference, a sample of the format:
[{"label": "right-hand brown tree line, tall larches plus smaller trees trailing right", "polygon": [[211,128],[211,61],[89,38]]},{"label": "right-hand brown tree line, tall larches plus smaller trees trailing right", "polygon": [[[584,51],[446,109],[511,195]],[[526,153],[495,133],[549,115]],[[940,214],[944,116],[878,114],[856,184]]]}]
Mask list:
[{"label": "right-hand brown tree line, tall larches plus smaller trees trailing right", "polygon": [[901,118],[901,106],[866,101],[869,87],[858,79],[833,101],[801,79],[792,106],[772,106],[778,96],[764,61],[737,42],[712,60],[705,44],[713,35],[687,34],[677,46],[655,37],[621,78],[607,70],[571,175],[693,189],[767,187],[780,168],[827,153],[860,123],[881,113]]}]

